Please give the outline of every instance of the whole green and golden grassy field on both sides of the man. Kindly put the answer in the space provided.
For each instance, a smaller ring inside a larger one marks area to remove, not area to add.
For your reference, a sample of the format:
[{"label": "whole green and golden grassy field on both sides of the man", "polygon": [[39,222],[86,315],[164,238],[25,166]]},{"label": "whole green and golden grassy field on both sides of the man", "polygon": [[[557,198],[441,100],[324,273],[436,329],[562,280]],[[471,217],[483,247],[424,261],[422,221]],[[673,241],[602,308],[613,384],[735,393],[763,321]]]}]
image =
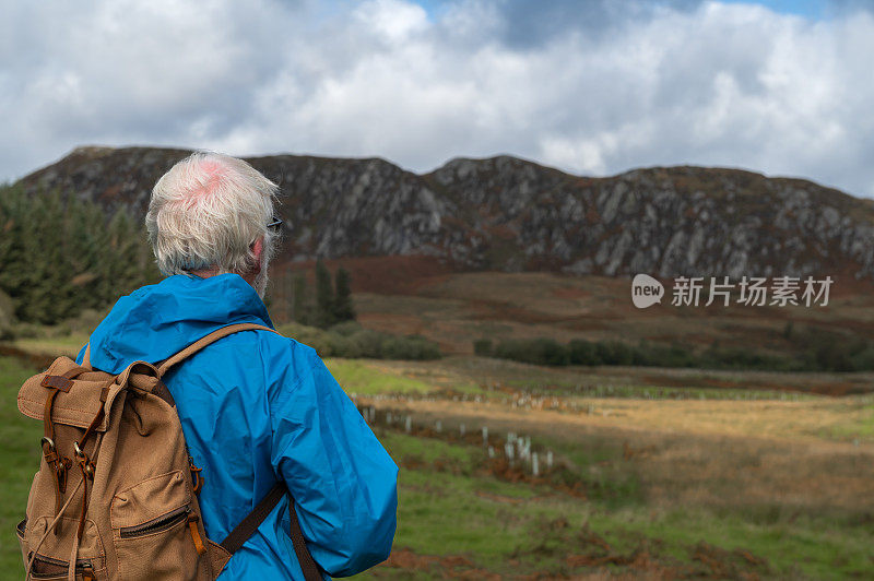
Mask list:
[{"label": "whole green and golden grassy field on both sides of the man", "polygon": [[[874,577],[874,401],[804,388],[828,378],[327,364],[402,469],[392,556],[358,579]],[[21,578],[42,427],[15,393],[32,372],[0,357],[0,579]],[[509,432],[531,438],[536,477],[510,465]]]}]

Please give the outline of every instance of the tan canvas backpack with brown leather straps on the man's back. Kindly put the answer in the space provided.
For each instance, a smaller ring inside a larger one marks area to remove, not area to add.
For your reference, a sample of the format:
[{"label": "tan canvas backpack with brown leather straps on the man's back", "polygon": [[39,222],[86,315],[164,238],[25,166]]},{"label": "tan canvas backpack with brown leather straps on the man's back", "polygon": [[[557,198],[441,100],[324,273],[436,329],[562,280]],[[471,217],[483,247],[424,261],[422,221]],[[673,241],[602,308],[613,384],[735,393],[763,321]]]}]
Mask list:
[{"label": "tan canvas backpack with brown leather straps on the man's back", "polygon": [[[221,543],[206,538],[203,486],[185,444],[173,395],[161,378],[173,365],[231,333],[222,328],[161,365],[131,364],[118,376],[60,357],[19,392],[19,410],[45,426],[43,460],[16,533],[27,578],[213,580],[282,496],[280,483]],[[209,484],[208,484],[209,485]],[[322,579],[290,498],[291,537],[307,580]]]}]

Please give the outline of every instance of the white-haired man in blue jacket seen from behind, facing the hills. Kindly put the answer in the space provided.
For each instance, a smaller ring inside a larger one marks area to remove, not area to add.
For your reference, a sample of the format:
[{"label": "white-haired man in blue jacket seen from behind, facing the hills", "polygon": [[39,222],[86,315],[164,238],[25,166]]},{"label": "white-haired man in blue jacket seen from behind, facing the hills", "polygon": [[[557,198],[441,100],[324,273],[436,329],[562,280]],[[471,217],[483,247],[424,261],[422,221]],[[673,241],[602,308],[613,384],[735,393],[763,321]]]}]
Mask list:
[{"label": "white-haired man in blue jacket seen from behind, facing the hills", "polygon": [[[214,153],[194,153],[167,171],[145,218],[167,277],[119,299],[91,335],[91,364],[118,374],[232,323],[272,327],[261,297],[276,245],[275,192],[249,164]],[[268,331],[241,331],[164,381],[202,469],[210,538],[227,536],[284,482],[323,573],[354,574],[388,557],[398,466],[315,349]],[[220,579],[303,579],[287,502],[286,495]]]}]

